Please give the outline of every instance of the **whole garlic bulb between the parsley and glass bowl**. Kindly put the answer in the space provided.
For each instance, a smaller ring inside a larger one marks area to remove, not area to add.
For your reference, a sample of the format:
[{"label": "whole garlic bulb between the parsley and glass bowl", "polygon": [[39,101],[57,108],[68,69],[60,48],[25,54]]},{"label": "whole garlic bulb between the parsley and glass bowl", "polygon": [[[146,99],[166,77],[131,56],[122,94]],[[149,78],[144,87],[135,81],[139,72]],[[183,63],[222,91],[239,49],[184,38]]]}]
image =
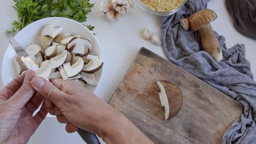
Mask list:
[{"label": "whole garlic bulb between the parsley and glass bowl", "polygon": [[118,22],[130,8],[134,8],[134,0],[103,0],[100,4],[102,16],[112,22]]}]

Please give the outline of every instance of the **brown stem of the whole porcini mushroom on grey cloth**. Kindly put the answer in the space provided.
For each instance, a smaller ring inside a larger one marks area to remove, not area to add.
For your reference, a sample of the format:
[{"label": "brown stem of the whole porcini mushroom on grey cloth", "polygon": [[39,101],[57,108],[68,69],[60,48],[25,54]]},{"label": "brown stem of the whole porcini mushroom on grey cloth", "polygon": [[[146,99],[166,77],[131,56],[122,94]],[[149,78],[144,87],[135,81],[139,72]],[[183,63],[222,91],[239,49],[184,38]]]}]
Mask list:
[{"label": "brown stem of the whole porcini mushroom on grey cloth", "polygon": [[199,29],[199,34],[204,51],[208,52],[216,62],[220,62],[223,58],[222,50],[219,40],[212,31],[211,24],[209,23]]}]

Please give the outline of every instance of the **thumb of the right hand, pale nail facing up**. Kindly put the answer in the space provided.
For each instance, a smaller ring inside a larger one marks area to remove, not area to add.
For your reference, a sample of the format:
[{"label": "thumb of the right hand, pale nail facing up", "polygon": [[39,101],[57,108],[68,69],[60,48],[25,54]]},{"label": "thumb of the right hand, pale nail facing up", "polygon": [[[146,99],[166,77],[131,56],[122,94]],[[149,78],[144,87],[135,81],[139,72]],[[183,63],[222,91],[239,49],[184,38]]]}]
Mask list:
[{"label": "thumb of the right hand, pale nail facing up", "polygon": [[34,90],[39,92],[47,100],[53,102],[56,106],[58,106],[60,98],[66,94],[59,90],[51,82],[40,76],[34,77],[31,81],[31,85],[34,88]]}]

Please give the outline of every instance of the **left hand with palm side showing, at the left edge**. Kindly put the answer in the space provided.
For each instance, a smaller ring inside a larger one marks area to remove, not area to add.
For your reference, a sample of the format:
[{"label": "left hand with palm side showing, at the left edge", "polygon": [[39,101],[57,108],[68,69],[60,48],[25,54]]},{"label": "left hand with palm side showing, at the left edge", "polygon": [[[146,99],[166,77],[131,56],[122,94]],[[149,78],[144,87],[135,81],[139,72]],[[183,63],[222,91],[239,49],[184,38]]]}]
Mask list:
[{"label": "left hand with palm side showing, at the left edge", "polygon": [[31,86],[36,72],[28,70],[0,91],[0,144],[26,144],[47,115],[43,99]]}]

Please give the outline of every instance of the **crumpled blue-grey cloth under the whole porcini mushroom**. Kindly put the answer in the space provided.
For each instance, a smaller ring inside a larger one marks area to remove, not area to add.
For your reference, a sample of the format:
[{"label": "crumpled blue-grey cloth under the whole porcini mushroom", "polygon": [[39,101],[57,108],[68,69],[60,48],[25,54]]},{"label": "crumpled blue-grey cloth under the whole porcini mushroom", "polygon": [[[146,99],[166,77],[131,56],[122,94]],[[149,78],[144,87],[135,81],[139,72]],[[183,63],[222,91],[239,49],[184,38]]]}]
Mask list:
[{"label": "crumpled blue-grey cloth under the whole porcini mushroom", "polygon": [[225,38],[214,31],[223,52],[223,59],[217,63],[201,51],[199,32],[186,31],[180,25],[182,18],[207,8],[207,3],[208,0],[188,0],[176,14],[162,18],[164,52],[172,63],[244,105],[241,118],[226,130],[222,144],[256,144],[256,82],[245,58],[244,44],[227,49]]}]

